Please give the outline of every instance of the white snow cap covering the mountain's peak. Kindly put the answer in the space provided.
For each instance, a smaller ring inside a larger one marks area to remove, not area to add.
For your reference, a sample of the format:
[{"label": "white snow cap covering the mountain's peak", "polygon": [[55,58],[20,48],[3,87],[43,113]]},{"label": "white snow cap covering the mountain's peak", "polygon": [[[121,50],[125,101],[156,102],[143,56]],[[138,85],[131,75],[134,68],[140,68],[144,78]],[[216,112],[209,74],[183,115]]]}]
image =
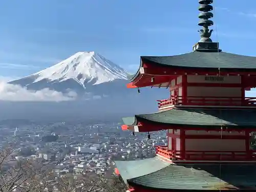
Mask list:
[{"label": "white snow cap covering the mountain's peak", "polygon": [[43,79],[47,79],[48,82],[73,79],[84,87],[87,83],[95,85],[115,79],[127,79],[127,75],[126,71],[112,61],[90,51],[78,52],[56,65],[28,77],[36,77],[32,83]]}]

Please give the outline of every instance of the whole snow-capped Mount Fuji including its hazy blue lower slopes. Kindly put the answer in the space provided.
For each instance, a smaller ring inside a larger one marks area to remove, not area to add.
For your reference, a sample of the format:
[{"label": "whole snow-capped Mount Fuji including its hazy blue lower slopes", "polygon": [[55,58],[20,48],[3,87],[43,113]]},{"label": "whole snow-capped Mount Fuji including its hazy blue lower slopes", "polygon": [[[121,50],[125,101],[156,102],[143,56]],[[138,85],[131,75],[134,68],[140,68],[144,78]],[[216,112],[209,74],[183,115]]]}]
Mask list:
[{"label": "whole snow-capped Mount Fuji including its hazy blue lower slopes", "polygon": [[[84,119],[121,117],[155,112],[158,99],[167,98],[166,89],[145,88],[138,94],[127,89],[124,69],[95,52],[78,52],[56,65],[27,77],[11,81],[28,90],[48,88],[58,92],[74,91],[77,99],[62,102],[3,102],[2,118]],[[150,89],[150,90],[148,90]],[[26,113],[24,113],[26,109]]]}]

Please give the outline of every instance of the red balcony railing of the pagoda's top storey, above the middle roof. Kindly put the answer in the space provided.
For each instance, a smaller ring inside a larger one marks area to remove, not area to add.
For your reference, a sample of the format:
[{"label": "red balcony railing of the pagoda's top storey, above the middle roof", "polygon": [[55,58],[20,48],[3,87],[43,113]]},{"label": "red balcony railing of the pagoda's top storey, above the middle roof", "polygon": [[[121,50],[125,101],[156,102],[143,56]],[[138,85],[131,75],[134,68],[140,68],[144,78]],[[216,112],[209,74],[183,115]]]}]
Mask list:
[{"label": "red balcony railing of the pagoda's top storey, above the middle roof", "polygon": [[256,106],[256,97],[178,97],[157,100],[158,108],[172,105]]}]

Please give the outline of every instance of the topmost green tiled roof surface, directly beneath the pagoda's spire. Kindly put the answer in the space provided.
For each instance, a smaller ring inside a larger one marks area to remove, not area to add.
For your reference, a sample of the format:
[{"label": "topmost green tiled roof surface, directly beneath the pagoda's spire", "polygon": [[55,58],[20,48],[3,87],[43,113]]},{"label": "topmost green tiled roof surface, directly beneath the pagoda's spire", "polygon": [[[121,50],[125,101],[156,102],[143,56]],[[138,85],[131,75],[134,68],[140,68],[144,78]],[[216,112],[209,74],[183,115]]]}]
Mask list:
[{"label": "topmost green tiled roof surface, directly beneath the pagoda's spire", "polygon": [[141,56],[141,59],[170,67],[256,70],[256,57],[225,52],[195,51],[175,56]]}]

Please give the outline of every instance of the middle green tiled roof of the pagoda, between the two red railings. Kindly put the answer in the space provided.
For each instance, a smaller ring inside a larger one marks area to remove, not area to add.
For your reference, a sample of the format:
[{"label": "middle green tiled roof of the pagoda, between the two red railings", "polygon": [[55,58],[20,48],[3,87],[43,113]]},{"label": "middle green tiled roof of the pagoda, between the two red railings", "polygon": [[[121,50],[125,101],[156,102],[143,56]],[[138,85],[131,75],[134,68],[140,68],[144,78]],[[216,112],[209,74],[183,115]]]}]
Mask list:
[{"label": "middle green tiled roof of the pagoda, between the two red railings", "polygon": [[185,109],[174,108],[152,114],[135,115],[134,118],[123,118],[127,125],[147,120],[153,123],[172,125],[209,126],[209,127],[256,127],[256,110],[244,109]]}]

